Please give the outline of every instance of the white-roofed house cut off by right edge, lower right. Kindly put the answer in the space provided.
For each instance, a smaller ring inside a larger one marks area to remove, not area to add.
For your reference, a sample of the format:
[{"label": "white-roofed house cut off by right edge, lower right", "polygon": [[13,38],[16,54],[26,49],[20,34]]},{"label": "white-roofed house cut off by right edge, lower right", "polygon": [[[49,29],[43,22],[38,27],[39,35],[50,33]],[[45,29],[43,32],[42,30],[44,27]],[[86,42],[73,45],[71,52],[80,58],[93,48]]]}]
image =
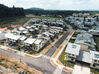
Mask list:
[{"label": "white-roofed house cut off by right edge, lower right", "polygon": [[92,57],[92,66],[99,69],[99,52],[90,51]]}]

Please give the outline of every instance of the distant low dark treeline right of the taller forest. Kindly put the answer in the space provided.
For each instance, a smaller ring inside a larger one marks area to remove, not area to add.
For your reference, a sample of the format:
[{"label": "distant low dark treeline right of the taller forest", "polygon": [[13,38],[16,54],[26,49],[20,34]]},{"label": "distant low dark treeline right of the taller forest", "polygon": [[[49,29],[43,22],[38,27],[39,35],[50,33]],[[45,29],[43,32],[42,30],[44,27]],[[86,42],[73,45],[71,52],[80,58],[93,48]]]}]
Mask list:
[{"label": "distant low dark treeline right of the taller forest", "polygon": [[47,16],[54,16],[58,17],[59,15],[61,16],[69,16],[72,15],[73,13],[97,13],[98,11],[73,11],[73,10],[31,10],[31,9],[26,9],[25,13],[26,14],[34,14],[34,15],[47,15]]}]

